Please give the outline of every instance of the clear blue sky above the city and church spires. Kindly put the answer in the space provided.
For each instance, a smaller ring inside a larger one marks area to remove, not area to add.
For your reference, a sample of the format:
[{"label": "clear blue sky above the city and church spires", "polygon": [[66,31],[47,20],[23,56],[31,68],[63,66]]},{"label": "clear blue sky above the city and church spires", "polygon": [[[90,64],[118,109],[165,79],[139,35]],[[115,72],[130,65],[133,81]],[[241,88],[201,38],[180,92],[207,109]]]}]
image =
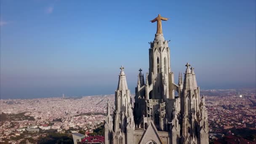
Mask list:
[{"label": "clear blue sky above the city and church spires", "polygon": [[189,62],[201,89],[256,87],[255,0],[1,0],[1,99],[111,94],[121,65],[134,92],[158,13],[176,82]]}]

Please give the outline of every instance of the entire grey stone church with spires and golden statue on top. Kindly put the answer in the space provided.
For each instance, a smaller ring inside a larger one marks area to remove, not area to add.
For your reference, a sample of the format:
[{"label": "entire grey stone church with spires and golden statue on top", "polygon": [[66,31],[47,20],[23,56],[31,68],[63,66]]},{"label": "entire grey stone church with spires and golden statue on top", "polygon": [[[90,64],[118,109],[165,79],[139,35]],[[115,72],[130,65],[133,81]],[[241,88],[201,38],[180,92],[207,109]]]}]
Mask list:
[{"label": "entire grey stone church with spires and golden statue on top", "polygon": [[171,49],[163,37],[161,20],[168,19],[158,15],[152,20],[157,21],[157,33],[149,43],[145,80],[139,69],[133,114],[130,91],[120,68],[115,113],[112,118],[108,110],[105,120],[106,144],[208,144],[205,98],[200,100],[194,68],[187,63],[184,80],[179,74],[179,83],[174,83]]}]

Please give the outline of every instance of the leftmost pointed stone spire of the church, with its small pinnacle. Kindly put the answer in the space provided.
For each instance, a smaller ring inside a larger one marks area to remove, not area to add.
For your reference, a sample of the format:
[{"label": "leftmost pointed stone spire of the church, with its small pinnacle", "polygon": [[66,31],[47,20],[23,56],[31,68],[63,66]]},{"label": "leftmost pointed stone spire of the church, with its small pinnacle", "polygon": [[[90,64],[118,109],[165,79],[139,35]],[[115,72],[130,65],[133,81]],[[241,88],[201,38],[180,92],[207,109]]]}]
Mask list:
[{"label": "leftmost pointed stone spire of the church, with its small pinnacle", "polygon": [[133,144],[134,120],[131,106],[130,90],[128,90],[124,67],[121,72],[117,90],[115,91],[115,112],[110,116],[109,104],[107,104],[107,116],[105,117],[105,144]]}]

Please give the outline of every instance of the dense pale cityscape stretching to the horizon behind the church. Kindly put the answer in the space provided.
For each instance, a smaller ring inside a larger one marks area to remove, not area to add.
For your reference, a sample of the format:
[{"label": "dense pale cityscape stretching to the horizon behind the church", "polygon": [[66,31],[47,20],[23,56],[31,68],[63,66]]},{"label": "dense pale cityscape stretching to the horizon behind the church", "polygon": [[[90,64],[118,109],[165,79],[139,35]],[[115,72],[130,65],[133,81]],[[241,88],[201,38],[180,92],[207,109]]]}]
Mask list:
[{"label": "dense pale cityscape stretching to the horizon behind the church", "polygon": [[[238,129],[255,136],[251,133],[256,131],[255,88],[202,90],[200,94],[206,99],[210,139],[228,133],[241,135]],[[87,136],[104,123],[107,101],[113,112],[114,95],[1,99],[0,142],[33,143],[48,133],[80,132]]]}]

